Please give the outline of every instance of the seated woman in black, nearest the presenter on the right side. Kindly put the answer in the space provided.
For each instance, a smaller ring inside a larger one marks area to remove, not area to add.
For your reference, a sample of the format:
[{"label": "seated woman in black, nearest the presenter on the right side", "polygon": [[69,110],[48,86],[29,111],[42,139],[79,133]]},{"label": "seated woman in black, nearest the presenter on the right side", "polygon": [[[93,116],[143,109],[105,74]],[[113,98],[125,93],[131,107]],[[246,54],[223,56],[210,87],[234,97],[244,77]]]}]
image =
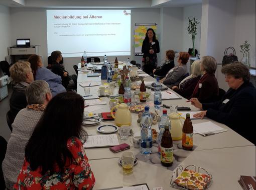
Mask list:
[{"label": "seated woman in black, nearest the presenter on the right side", "polygon": [[165,53],[165,62],[153,70],[155,76],[164,77],[174,67],[174,50],[169,49]]}]

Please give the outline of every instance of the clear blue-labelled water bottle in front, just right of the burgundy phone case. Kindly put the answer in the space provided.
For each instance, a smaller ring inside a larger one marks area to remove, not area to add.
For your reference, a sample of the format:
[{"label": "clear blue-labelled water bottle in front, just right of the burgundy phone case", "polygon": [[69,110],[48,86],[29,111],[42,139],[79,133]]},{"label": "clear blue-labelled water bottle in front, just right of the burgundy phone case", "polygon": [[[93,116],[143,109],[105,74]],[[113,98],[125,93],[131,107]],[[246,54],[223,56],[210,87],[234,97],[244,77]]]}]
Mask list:
[{"label": "clear blue-labelled water bottle in front, just right of the burgundy phone case", "polygon": [[141,118],[141,152],[143,154],[152,153],[152,117],[149,112],[149,106],[145,106],[145,111]]}]

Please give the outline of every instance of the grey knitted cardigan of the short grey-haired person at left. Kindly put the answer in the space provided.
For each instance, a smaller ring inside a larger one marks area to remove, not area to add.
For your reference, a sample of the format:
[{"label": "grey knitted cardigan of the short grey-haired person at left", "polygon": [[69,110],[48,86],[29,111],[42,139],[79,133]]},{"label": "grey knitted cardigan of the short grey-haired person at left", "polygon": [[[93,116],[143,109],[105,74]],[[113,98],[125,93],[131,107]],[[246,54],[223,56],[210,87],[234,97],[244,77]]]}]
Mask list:
[{"label": "grey knitted cardigan of the short grey-haired person at left", "polygon": [[13,189],[22,168],[25,157],[25,145],[28,142],[43,111],[21,109],[12,124],[13,133],[7,144],[5,159],[2,163],[6,187]]}]

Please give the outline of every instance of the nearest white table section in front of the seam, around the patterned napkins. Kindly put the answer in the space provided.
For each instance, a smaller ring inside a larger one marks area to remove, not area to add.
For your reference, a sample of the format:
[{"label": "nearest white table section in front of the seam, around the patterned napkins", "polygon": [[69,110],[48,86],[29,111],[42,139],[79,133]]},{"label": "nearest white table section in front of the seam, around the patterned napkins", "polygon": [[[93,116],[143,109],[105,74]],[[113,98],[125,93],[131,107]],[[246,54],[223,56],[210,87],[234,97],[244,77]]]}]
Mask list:
[{"label": "nearest white table section in front of the seam, around the patterned napkins", "polygon": [[[139,161],[130,175],[122,174],[118,158],[89,160],[96,183],[93,189],[128,186],[147,183],[150,189],[170,187],[172,171]],[[187,165],[201,166],[213,176],[211,190],[241,189],[237,182],[240,175],[255,176],[255,146],[219,148],[192,152],[183,162]]]}]

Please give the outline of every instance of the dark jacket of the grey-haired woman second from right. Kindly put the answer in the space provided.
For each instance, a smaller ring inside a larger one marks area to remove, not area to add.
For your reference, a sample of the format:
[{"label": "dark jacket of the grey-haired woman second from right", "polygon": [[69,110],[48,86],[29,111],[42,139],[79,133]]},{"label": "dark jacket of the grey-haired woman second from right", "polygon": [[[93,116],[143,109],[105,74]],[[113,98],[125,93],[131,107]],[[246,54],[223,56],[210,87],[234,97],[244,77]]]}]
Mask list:
[{"label": "dark jacket of the grey-haired woman second from right", "polygon": [[201,76],[191,97],[197,97],[201,103],[209,103],[215,101],[218,94],[219,85],[215,74],[206,73]]}]

